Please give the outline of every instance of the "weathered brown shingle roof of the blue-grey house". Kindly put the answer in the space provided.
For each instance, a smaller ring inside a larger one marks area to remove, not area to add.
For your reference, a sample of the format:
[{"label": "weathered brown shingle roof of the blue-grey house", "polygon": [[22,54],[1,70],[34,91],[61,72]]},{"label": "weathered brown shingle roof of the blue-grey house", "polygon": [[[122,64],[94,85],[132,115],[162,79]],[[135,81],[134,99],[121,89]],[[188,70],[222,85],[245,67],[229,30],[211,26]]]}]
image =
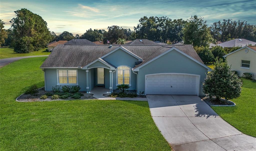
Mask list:
[{"label": "weathered brown shingle roof of the blue-grey house", "polygon": [[44,61],[41,68],[83,67],[113,51],[119,46],[123,46],[125,49],[142,58],[144,61],[151,60],[155,56],[158,56],[175,46],[180,51],[203,63],[191,45],[112,45],[112,47],[109,48],[109,45],[59,44]]}]

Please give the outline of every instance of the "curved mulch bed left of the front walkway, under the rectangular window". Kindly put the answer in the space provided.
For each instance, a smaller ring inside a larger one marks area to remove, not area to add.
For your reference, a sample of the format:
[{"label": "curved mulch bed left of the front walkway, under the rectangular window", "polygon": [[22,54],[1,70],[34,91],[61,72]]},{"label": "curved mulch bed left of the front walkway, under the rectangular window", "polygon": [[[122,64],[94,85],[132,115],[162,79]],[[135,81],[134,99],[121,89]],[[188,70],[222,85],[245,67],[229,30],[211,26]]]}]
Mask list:
[{"label": "curved mulch bed left of the front walkway, under the rectangular window", "polygon": [[81,96],[81,98],[79,99],[74,99],[74,98],[66,98],[66,99],[51,99],[51,96],[48,96],[47,99],[40,99],[40,96],[45,95],[46,93],[52,93],[54,94],[52,91],[44,91],[44,88],[42,89],[38,89],[38,94],[36,96],[31,95],[31,94],[22,94],[21,96],[19,96],[17,98],[18,101],[22,101],[22,102],[40,102],[40,101],[56,101],[56,100],[87,100],[87,99],[97,99],[95,97],[93,97],[93,94],[91,93],[86,93],[86,91],[79,91],[80,93],[82,93],[84,96]]}]

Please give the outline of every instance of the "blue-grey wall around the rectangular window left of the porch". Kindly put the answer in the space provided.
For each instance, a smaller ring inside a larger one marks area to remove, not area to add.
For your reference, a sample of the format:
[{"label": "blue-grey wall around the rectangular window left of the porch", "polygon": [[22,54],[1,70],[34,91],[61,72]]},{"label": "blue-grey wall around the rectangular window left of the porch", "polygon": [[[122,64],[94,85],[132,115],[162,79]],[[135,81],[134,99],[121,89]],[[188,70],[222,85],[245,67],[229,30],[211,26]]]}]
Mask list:
[{"label": "blue-grey wall around the rectangular window left of the porch", "polygon": [[[44,69],[46,91],[52,91],[52,87],[57,85],[57,69]],[[77,70],[78,85],[81,87],[80,91],[86,91],[86,70]]]}]

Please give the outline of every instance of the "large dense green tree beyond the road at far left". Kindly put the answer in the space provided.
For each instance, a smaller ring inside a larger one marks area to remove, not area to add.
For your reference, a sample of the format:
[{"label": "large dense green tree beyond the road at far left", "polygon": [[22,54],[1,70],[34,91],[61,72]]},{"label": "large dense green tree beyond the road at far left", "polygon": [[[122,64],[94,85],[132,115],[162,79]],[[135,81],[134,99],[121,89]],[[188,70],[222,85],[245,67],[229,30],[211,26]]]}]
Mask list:
[{"label": "large dense green tree beyond the road at far left", "polygon": [[14,52],[38,51],[52,40],[47,22],[41,16],[25,8],[14,12],[16,17],[10,21],[15,42]]}]

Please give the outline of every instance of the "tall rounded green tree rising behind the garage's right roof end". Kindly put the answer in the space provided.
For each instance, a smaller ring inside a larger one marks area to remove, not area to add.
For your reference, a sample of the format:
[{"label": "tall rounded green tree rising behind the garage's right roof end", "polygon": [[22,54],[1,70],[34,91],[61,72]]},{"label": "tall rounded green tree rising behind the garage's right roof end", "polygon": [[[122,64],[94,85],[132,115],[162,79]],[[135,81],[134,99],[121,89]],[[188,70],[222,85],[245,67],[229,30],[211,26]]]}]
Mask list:
[{"label": "tall rounded green tree rising behind the garage's right roof end", "polygon": [[183,28],[184,44],[195,46],[209,47],[213,39],[210,34],[210,29],[207,27],[207,21],[197,15],[191,16],[185,27]]}]

